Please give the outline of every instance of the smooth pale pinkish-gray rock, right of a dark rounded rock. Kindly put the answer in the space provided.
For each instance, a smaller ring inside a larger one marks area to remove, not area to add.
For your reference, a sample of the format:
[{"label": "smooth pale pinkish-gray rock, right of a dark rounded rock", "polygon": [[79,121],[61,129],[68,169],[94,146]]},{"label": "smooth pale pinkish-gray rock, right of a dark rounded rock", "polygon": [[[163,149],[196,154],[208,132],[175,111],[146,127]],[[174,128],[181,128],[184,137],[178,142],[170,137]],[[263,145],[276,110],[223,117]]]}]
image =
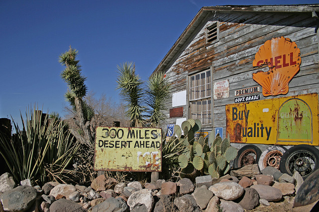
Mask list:
[{"label": "smooth pale pinkish-gray rock, right of a dark rounded rock", "polygon": [[279,201],[283,198],[281,191],[271,186],[252,185],[250,188],[256,189],[259,197],[267,201]]}]

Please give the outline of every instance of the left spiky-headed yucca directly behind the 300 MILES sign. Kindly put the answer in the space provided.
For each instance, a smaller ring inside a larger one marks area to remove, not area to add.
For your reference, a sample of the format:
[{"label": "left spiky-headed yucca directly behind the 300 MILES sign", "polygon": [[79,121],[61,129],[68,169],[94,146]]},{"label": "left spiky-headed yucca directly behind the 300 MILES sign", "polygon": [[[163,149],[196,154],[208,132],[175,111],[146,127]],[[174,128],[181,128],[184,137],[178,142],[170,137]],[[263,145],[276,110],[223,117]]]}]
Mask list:
[{"label": "left spiky-headed yucca directly behind the 300 MILES sign", "polygon": [[140,76],[135,73],[133,63],[124,63],[118,66],[118,73],[117,89],[120,89],[120,95],[127,102],[126,107],[131,127],[144,127],[143,82]]}]

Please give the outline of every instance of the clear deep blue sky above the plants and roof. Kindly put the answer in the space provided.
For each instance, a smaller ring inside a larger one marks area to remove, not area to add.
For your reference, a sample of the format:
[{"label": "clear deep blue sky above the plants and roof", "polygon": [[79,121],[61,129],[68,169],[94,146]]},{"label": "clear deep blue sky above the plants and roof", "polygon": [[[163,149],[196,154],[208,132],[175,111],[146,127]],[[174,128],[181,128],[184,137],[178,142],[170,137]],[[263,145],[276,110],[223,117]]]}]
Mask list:
[{"label": "clear deep blue sky above the plants and roof", "polygon": [[[147,80],[202,6],[309,4],[318,0],[0,0],[0,118],[28,106],[65,115],[58,63],[69,45],[96,97],[119,100],[117,65]],[[10,118],[11,119],[11,118]]]}]

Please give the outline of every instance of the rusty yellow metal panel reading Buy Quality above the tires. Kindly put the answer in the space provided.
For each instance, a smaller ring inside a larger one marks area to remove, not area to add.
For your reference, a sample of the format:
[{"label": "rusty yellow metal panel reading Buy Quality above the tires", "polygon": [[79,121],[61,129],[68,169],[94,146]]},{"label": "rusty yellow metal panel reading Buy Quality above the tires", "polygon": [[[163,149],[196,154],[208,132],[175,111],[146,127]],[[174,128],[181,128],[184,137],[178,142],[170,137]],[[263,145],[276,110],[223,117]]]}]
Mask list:
[{"label": "rusty yellow metal panel reading Buy Quality above the tires", "polygon": [[318,93],[226,105],[231,142],[319,144]]}]

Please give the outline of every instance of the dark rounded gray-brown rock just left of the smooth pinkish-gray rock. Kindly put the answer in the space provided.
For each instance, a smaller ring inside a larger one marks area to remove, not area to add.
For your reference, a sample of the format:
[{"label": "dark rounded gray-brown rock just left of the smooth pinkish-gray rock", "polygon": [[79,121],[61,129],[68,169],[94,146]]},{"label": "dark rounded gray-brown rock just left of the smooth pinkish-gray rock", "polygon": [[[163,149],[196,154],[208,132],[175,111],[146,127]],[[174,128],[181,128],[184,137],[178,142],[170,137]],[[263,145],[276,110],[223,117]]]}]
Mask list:
[{"label": "dark rounded gray-brown rock just left of the smooth pinkish-gray rock", "polygon": [[253,210],[259,205],[259,194],[253,188],[245,188],[244,194],[234,202],[246,210]]}]

